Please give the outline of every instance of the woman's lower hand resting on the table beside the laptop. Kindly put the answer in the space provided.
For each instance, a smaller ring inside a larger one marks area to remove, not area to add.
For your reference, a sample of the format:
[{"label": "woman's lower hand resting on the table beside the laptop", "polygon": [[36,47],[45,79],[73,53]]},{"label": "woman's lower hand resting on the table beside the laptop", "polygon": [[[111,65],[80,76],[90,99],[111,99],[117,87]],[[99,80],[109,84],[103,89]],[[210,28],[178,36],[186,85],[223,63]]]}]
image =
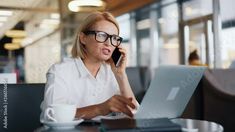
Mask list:
[{"label": "woman's lower hand resting on the table beside the laptop", "polygon": [[122,112],[130,117],[133,116],[131,108],[135,109],[132,98],[126,98],[121,95],[114,95],[104,103],[98,105],[101,115],[107,115],[111,112]]}]

